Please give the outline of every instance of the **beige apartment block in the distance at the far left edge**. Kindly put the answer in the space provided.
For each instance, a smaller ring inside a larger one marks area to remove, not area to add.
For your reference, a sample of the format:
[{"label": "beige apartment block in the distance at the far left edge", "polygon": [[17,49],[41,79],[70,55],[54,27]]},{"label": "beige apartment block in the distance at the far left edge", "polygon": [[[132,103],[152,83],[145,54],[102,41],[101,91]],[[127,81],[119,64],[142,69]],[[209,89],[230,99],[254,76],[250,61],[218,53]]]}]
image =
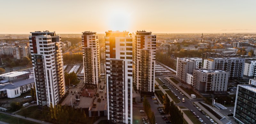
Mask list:
[{"label": "beige apartment block in the distance at the far left edge", "polygon": [[28,57],[29,47],[22,46],[5,46],[0,47],[0,55],[12,55],[14,59]]}]

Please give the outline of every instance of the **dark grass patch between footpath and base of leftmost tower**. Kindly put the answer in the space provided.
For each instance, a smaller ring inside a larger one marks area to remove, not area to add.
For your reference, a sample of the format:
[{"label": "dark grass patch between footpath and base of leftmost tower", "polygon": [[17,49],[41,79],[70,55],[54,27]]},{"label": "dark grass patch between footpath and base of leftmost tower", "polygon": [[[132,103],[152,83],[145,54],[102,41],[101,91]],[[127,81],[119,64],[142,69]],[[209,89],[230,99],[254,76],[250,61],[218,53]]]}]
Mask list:
[{"label": "dark grass patch between footpath and base of leftmost tower", "polygon": [[[42,111],[38,110],[38,106],[31,106],[31,107],[28,107],[27,109],[29,112],[27,115],[28,118],[45,121],[44,117],[42,116]],[[21,112],[18,112],[17,114],[21,116],[25,116]]]}]

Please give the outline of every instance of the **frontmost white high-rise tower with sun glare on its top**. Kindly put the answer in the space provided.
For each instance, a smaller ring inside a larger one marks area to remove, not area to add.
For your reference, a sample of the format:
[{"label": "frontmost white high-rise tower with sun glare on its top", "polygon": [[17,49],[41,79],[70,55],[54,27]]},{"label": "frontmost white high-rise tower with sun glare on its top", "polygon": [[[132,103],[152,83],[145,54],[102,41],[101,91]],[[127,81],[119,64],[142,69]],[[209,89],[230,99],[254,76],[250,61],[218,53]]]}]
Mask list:
[{"label": "frontmost white high-rise tower with sun glare on its top", "polygon": [[132,34],[108,31],[105,36],[108,120],[132,124]]}]

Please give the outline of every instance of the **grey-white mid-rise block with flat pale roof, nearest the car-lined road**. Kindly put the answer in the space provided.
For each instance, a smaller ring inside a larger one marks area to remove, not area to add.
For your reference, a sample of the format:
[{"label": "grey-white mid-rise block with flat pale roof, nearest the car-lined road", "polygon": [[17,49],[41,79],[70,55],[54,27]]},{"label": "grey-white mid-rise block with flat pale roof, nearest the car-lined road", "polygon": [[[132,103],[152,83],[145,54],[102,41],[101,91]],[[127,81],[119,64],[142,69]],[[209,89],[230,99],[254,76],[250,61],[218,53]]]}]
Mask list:
[{"label": "grey-white mid-rise block with flat pale roof, nearest the car-lined road", "polygon": [[194,69],[193,87],[203,92],[226,92],[228,72],[220,69]]}]

